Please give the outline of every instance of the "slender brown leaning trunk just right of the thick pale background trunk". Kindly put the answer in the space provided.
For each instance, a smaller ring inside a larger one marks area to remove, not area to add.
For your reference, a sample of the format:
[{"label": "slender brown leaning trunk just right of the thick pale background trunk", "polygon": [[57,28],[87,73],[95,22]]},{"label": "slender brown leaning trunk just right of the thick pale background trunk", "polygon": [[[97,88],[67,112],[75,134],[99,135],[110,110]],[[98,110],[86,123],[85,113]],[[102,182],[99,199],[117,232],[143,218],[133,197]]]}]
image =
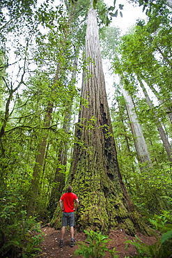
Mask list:
[{"label": "slender brown leaning trunk just right of the thick pale background trunk", "polygon": [[[138,77],[138,79],[139,79],[139,77]],[[147,101],[150,109],[153,110],[153,103],[150,100],[150,98],[148,96],[148,93],[146,91],[146,88],[143,85],[143,82],[141,82],[141,79],[139,79],[139,83],[141,85],[141,88],[143,89],[143,93],[145,95],[146,101]],[[172,162],[172,149],[171,149],[171,145],[169,143],[168,138],[166,137],[166,133],[164,132],[164,129],[162,127],[162,123],[159,121],[159,119],[157,118],[157,115],[156,115],[156,113],[154,111],[153,111],[153,113],[154,113],[154,117],[155,117],[155,123],[156,123],[156,126],[157,126],[157,130],[159,132],[159,136],[162,139],[162,142],[163,142],[164,148],[166,150],[167,156],[169,158],[169,161]]]}]

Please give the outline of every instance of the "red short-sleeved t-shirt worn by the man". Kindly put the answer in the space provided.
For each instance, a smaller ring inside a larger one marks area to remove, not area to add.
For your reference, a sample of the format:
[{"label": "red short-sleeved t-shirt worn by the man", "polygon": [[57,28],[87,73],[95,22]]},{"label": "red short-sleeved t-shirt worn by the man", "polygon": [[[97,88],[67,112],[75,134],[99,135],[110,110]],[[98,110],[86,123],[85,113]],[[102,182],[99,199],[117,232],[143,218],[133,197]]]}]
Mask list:
[{"label": "red short-sleeved t-shirt worn by the man", "polygon": [[61,197],[63,201],[64,212],[73,212],[74,210],[74,200],[78,199],[77,195],[73,192],[65,192]]}]

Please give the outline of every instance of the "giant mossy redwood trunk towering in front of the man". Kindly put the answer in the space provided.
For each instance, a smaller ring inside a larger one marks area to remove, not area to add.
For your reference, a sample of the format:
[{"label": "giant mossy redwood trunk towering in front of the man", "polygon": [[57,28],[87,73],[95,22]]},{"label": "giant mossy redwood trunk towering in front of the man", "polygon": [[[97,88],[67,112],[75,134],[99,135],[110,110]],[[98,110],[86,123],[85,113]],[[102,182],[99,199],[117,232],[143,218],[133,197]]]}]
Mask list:
[{"label": "giant mossy redwood trunk towering in front of the man", "polygon": [[[79,229],[108,232],[120,227],[129,234],[146,232],[123,184],[116,157],[97,29],[96,13],[88,12],[86,69],[81,89],[81,110],[67,184],[79,197]],[[54,213],[52,225],[59,216]],[[59,224],[58,224],[59,221]],[[55,227],[61,227],[60,219]]]}]

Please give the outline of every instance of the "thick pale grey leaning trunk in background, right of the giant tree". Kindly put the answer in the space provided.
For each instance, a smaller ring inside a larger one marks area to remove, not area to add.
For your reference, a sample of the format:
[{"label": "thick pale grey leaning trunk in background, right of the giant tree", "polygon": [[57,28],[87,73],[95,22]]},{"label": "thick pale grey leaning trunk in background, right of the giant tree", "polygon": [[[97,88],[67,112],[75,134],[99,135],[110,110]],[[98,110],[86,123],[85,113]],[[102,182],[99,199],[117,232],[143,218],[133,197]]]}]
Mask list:
[{"label": "thick pale grey leaning trunk in background, right of the giant tree", "polygon": [[141,163],[146,163],[146,165],[152,166],[152,163],[150,160],[150,155],[149,155],[148,148],[146,145],[146,141],[143,136],[141,126],[140,126],[139,121],[136,116],[132,97],[123,88],[123,82],[120,84],[120,87],[123,91],[123,96],[125,98],[125,105],[127,107],[127,114],[130,119],[130,126],[131,126],[131,130],[132,130],[132,135],[134,136],[134,146],[136,148],[138,160]]}]

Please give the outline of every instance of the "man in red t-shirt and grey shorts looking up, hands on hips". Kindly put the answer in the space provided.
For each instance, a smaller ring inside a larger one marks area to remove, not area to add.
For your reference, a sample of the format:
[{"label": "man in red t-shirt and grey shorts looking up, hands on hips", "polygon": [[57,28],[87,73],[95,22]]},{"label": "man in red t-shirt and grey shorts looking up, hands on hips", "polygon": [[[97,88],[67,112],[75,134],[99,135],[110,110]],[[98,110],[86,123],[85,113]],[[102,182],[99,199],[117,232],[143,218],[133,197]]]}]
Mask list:
[{"label": "man in red t-shirt and grey shorts looking up, hands on hips", "polygon": [[[61,229],[61,241],[60,241],[60,248],[63,248],[63,236],[65,234],[65,227],[70,225],[70,237],[71,237],[71,242],[70,242],[70,247],[72,248],[75,244],[74,241],[74,222],[75,222],[75,213],[74,211],[77,211],[77,207],[79,205],[79,200],[77,195],[72,192],[72,187],[69,185],[68,192],[65,192],[64,195],[62,195],[59,205],[61,208],[61,211],[63,211],[63,217],[62,217],[62,229]],[[76,202],[76,206],[74,208],[74,201]]]}]

